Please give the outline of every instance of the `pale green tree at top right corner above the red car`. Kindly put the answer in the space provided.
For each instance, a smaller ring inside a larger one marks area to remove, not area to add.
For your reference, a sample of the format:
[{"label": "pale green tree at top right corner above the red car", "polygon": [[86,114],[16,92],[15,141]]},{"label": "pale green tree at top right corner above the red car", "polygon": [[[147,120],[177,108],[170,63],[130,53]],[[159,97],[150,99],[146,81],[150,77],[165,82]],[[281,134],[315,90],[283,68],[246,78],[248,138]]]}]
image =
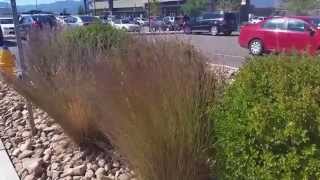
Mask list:
[{"label": "pale green tree at top right corner above the red car", "polygon": [[319,8],[319,0],[283,0],[282,6],[296,15],[308,15],[311,10]]}]

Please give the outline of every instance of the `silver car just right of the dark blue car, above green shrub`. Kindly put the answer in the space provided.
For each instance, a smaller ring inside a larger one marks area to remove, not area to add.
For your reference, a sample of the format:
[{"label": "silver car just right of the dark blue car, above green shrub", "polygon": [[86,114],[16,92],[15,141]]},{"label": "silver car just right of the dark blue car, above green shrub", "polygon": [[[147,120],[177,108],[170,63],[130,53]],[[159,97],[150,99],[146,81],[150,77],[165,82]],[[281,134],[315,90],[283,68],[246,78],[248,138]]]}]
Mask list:
[{"label": "silver car just right of the dark blue car, above green shrub", "polygon": [[68,16],[65,18],[68,27],[87,26],[93,23],[99,23],[101,20],[95,16]]}]

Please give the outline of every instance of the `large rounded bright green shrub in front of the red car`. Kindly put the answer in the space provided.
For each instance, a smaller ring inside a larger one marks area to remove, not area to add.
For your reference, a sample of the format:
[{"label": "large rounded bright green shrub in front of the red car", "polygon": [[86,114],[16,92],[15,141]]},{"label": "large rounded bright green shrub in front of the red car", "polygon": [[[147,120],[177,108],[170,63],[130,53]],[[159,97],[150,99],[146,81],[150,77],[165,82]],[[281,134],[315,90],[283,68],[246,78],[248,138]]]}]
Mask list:
[{"label": "large rounded bright green shrub in front of the red car", "polygon": [[215,111],[221,179],[320,178],[320,60],[258,57]]}]

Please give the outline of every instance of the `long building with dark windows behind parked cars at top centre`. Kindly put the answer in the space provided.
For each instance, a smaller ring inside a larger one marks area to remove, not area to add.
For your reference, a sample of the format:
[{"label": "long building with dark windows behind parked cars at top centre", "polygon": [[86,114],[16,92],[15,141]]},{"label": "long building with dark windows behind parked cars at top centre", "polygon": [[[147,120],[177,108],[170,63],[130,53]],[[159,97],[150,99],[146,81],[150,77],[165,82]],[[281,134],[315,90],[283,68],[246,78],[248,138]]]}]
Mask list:
[{"label": "long building with dark windows behind parked cars at top centre", "polygon": [[[181,5],[185,0],[159,0],[160,14],[175,16],[181,14]],[[89,10],[97,15],[109,14],[108,0],[90,0]],[[113,0],[113,15],[147,16],[148,0]]]}]

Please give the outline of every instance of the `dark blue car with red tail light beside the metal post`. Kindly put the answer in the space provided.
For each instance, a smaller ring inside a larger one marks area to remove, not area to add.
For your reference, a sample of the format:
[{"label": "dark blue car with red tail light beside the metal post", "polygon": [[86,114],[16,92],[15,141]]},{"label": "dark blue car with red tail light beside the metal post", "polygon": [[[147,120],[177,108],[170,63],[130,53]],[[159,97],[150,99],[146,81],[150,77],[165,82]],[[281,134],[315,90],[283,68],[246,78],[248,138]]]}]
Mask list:
[{"label": "dark blue car with red tail light beside the metal post", "polygon": [[34,29],[52,29],[56,26],[57,21],[52,14],[23,14],[19,18],[19,31],[24,39],[28,39],[29,33]]}]

